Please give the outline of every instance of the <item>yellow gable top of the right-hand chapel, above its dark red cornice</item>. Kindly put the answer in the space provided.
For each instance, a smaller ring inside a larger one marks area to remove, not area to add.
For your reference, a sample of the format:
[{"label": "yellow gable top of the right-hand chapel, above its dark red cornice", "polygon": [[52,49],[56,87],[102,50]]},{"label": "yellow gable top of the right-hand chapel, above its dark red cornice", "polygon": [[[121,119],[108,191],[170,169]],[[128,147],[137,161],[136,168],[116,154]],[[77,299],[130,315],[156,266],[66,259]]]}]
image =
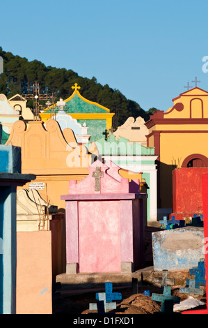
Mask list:
[{"label": "yellow gable top of the right-hand chapel, above its dark red cornice", "polygon": [[207,119],[208,92],[195,87],[173,98],[173,107],[164,112],[164,119]]}]

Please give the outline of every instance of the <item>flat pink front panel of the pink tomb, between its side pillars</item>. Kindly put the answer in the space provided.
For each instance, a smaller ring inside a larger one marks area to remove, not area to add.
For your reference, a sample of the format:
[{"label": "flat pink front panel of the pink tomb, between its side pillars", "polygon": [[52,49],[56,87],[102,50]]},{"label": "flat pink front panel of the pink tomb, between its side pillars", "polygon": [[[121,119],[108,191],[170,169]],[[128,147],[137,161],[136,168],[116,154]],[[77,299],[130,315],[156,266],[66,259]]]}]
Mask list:
[{"label": "flat pink front panel of the pink tomb, between its side pillars", "polygon": [[79,202],[79,272],[120,271],[120,202]]}]

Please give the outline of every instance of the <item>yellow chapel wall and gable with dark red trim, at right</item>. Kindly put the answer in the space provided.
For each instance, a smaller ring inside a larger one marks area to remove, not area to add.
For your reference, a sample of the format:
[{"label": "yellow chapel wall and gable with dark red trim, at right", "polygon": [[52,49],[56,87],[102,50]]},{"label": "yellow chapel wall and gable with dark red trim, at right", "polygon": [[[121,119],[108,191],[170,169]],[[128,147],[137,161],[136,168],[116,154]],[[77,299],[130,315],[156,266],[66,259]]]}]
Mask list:
[{"label": "yellow chapel wall and gable with dark red trim, at right", "polygon": [[[198,87],[173,99],[173,107],[158,111],[146,122],[147,146],[158,155],[158,207],[173,209],[172,172],[189,156],[205,156],[208,166],[208,93]],[[195,157],[198,158],[198,157]]]}]

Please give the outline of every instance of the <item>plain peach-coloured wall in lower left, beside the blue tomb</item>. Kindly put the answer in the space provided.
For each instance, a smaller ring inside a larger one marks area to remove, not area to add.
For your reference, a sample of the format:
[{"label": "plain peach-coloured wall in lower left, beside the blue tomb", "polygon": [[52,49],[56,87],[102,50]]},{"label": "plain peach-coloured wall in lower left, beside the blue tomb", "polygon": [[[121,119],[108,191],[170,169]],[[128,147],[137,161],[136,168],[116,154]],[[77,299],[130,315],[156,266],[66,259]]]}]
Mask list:
[{"label": "plain peach-coloured wall in lower left, beside the blue tomb", "polygon": [[17,232],[17,314],[51,314],[51,231]]}]

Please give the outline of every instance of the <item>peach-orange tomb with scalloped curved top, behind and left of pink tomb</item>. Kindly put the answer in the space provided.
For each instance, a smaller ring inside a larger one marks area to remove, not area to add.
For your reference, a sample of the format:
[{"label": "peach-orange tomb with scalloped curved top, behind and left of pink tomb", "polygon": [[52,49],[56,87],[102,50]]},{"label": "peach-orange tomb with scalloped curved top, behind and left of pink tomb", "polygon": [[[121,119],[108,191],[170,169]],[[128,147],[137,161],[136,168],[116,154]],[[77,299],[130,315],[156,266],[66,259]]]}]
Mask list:
[{"label": "peach-orange tomb with scalloped curved top, behind and left of pink tomb", "polygon": [[[70,130],[70,129],[69,129]],[[22,172],[35,174],[35,184],[42,184],[38,192],[43,200],[65,209],[61,194],[67,193],[70,179],[80,181],[88,175],[88,166],[95,156],[83,145],[77,144],[71,133],[67,142],[58,122],[16,121],[6,144],[22,149]],[[46,188],[47,186],[47,188]],[[29,184],[24,186],[29,190]]]}]

